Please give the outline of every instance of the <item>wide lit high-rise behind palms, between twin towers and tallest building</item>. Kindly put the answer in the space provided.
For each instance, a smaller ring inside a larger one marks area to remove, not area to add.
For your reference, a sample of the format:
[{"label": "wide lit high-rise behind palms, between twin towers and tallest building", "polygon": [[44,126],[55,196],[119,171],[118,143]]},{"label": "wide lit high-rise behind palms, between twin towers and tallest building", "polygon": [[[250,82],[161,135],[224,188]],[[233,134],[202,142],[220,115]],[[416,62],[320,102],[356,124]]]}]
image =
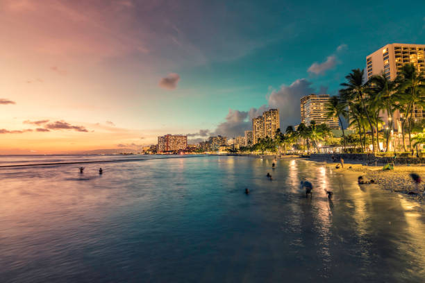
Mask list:
[{"label": "wide lit high-rise behind palms, between twin towers and tallest building", "polygon": [[310,94],[301,97],[301,123],[308,126],[311,121],[315,121],[317,125],[326,123],[331,129],[340,129],[338,117],[327,118],[326,108],[330,99],[329,94]]}]

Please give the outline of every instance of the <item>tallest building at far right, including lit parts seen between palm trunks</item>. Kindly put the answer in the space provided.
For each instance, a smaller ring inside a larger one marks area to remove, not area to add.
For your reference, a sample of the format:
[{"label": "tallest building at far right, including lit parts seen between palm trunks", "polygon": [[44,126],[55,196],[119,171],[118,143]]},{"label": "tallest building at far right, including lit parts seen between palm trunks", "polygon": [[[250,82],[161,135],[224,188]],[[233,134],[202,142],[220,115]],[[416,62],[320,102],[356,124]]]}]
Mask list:
[{"label": "tallest building at far right, including lit parts seen between palm trunks", "polygon": [[[385,74],[390,80],[397,78],[401,67],[413,64],[417,71],[425,71],[425,44],[400,44],[392,43],[383,46],[374,53],[366,56],[367,79],[374,75]],[[422,107],[415,105],[415,121],[425,119],[425,111]],[[381,119],[389,125],[387,113],[381,113]],[[393,129],[401,132],[401,120],[403,114],[396,110],[393,115]]]}]

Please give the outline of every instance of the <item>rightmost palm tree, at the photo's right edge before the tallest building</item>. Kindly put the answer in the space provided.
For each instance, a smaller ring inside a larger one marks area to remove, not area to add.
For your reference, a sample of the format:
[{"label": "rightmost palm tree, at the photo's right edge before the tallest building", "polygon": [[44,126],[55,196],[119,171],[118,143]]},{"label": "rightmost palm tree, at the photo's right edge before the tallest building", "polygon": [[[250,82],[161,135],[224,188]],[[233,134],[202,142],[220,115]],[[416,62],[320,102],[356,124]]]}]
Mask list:
[{"label": "rightmost palm tree, at the photo's right edge before the tallest building", "polygon": [[415,108],[424,107],[425,101],[425,76],[423,72],[417,72],[415,65],[403,65],[400,75],[397,77],[397,97],[406,105],[405,117],[402,122],[403,148],[406,151],[405,127],[408,123],[409,147],[412,148],[411,130]]}]

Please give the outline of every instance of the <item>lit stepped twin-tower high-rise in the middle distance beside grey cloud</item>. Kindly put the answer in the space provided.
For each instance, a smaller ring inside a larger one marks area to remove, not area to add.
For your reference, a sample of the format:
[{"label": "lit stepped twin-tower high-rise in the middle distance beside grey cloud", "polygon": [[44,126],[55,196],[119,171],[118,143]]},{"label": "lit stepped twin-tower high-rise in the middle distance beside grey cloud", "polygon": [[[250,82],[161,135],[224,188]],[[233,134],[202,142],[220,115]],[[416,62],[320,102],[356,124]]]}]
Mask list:
[{"label": "lit stepped twin-tower high-rise in the middle distance beside grey cloud", "polygon": [[280,127],[279,110],[270,109],[263,112],[262,116],[252,119],[252,139],[253,144],[257,144],[259,139],[271,137],[274,139],[276,130]]}]

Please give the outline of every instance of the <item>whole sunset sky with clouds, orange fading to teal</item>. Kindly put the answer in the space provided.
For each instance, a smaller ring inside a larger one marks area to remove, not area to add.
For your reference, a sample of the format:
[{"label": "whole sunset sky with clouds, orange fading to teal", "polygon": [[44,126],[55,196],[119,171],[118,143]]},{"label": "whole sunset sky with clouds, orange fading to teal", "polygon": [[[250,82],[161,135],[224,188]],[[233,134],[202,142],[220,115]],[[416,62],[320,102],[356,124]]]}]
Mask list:
[{"label": "whole sunset sky with clouds, orange fading to teal", "polygon": [[390,43],[425,44],[409,1],[0,0],[0,154],[235,137],[338,94]]}]

